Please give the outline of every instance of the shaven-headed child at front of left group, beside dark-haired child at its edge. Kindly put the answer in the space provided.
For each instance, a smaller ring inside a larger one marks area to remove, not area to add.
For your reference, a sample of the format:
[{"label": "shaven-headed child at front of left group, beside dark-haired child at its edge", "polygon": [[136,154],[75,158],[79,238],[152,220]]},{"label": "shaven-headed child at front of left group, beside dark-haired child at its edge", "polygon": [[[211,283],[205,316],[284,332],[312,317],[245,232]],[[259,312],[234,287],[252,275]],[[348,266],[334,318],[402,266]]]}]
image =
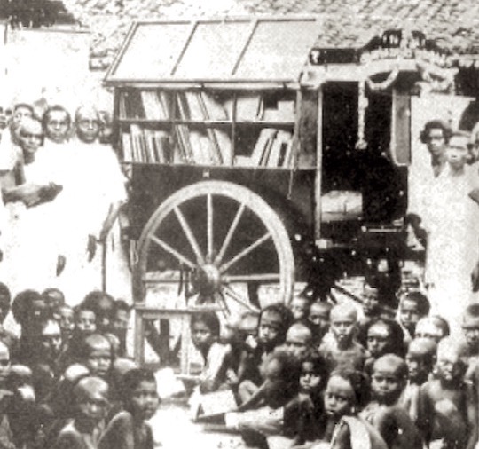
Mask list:
[{"label": "shaven-headed child at front of left group, beside dark-haired child at its edge", "polygon": [[108,384],[99,377],[83,377],[74,388],[75,419],[61,431],[53,449],[94,449],[105,428]]}]

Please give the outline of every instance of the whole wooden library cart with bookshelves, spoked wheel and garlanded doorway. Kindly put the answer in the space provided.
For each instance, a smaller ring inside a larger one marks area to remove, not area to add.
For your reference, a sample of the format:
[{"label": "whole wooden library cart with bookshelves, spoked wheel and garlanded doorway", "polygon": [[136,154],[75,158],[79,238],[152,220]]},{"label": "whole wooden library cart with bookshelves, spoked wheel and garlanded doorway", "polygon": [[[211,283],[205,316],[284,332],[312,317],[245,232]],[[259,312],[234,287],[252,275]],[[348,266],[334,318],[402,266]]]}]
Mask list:
[{"label": "whole wooden library cart with bookshelves, spoked wheel and garlanded doorway", "polygon": [[460,88],[474,61],[417,30],[342,49],[319,32],[307,16],[130,28],[105,83],[130,173],[138,361],[152,320],[179,323],[187,376],[192,313],[288,302],[298,281],[324,296],[381,265],[400,276],[420,129],[475,109]]}]

